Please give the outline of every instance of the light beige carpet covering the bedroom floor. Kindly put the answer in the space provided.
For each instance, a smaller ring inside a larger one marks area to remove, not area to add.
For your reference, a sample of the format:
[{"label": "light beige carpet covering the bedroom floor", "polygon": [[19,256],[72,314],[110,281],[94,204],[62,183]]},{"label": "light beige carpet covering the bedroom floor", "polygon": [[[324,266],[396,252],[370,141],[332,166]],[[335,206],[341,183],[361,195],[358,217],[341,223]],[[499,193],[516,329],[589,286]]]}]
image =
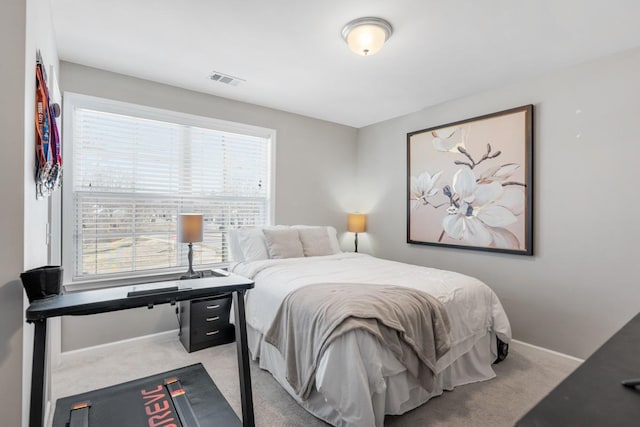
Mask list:
[{"label": "light beige carpet covering the bedroom floor", "polygon": [[[187,353],[177,336],[139,340],[66,354],[53,369],[54,400],[201,362],[236,413],[240,395],[235,344]],[[514,344],[507,360],[495,366],[497,378],[458,387],[402,416],[389,426],[513,426],[536,402],[578,366],[578,362]],[[252,362],[257,426],[326,426],[302,409]],[[52,418],[52,417],[51,417]]]}]

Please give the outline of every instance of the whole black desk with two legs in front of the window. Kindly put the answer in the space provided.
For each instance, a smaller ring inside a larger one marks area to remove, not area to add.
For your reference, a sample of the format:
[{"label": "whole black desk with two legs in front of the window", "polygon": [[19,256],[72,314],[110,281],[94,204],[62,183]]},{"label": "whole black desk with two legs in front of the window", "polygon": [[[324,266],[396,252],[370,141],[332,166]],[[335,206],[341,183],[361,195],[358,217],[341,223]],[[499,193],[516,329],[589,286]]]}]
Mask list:
[{"label": "whole black desk with two legs in front of the window", "polygon": [[[173,287],[173,289],[170,289]],[[244,312],[244,294],[253,288],[253,282],[244,277],[229,274],[223,277],[207,277],[192,280],[147,283],[109,289],[74,292],[36,300],[26,311],[27,322],[35,325],[33,339],[33,370],[31,373],[31,402],[29,426],[44,427],[44,376],[47,342],[47,319],[57,316],[81,316],[136,307],[153,308],[159,304],[175,304],[195,298],[212,297],[232,293],[235,310],[238,372],[242,401],[242,424],[255,425],[253,396],[249,371],[249,350]],[[168,290],[170,289],[170,290]],[[142,291],[142,293],[140,293]],[[135,296],[127,296],[138,292]],[[146,293],[151,292],[151,293]]]}]

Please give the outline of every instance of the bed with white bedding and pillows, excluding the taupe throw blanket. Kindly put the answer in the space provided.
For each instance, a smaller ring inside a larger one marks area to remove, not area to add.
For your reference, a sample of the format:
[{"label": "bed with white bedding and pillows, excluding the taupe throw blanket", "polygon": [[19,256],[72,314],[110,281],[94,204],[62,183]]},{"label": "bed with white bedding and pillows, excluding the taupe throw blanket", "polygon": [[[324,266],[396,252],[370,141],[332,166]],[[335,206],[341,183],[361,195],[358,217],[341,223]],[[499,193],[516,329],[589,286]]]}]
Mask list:
[{"label": "bed with white bedding and pillows, excluding the taupe throw blanket", "polygon": [[[403,414],[445,390],[491,379],[498,347],[504,349],[511,340],[500,301],[481,281],[451,271],[343,253],[332,227],[238,230],[230,234],[230,246],[236,260],[230,270],[255,281],[246,296],[252,358],[301,406],[332,425],[382,426],[385,415]],[[265,335],[288,295],[319,284],[397,285],[435,297],[448,315],[450,346],[435,362],[431,390],[421,386],[397,353],[374,335],[354,329],[323,349],[312,388],[302,395],[287,379],[287,361]]]}]

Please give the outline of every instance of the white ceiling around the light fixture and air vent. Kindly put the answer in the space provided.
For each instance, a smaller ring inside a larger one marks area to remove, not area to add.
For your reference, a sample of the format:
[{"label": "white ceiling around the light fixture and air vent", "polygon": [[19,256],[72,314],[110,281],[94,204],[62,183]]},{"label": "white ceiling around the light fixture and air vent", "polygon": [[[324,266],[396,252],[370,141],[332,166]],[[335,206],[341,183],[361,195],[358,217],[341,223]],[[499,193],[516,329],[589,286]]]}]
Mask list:
[{"label": "white ceiling around the light fixture and air vent", "polygon": [[[51,2],[62,60],[354,127],[640,46],[639,0]],[[363,16],[394,28],[371,57]]]}]

